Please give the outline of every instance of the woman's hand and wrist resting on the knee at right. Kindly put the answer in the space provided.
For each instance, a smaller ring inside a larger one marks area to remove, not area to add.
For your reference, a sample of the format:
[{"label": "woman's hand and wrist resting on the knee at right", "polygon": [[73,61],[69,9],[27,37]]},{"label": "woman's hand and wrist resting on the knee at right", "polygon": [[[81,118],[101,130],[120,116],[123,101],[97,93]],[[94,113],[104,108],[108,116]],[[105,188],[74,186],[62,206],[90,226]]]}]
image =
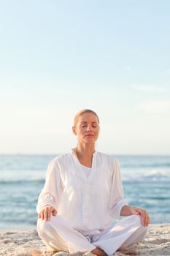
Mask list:
[{"label": "woman's hand and wrist resting on the knee at right", "polygon": [[148,226],[150,224],[150,216],[146,210],[137,208],[135,206],[123,206],[120,211],[120,216],[130,216],[130,215],[141,215],[142,224]]}]

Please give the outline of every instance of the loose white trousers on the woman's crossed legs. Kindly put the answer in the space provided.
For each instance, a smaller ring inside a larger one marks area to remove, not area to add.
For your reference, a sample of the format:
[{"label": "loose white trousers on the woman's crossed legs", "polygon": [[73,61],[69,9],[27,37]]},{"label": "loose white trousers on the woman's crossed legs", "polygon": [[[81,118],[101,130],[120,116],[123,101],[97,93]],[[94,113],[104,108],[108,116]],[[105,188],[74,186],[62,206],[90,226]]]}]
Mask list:
[{"label": "loose white trousers on the woman's crossed legs", "polygon": [[83,236],[70,227],[62,216],[52,215],[49,221],[38,219],[37,231],[50,251],[86,252],[98,247],[111,256],[117,249],[142,241],[147,227],[142,225],[140,215],[131,215],[123,217],[98,235]]}]

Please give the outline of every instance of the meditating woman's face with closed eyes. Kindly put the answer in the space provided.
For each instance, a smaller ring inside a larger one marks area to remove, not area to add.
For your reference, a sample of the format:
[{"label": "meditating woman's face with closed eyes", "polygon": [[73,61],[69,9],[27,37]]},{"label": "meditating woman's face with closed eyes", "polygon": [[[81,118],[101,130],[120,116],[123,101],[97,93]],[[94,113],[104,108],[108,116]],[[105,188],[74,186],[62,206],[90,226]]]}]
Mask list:
[{"label": "meditating woman's face with closed eyes", "polygon": [[93,113],[84,113],[72,129],[80,142],[94,143],[98,139],[100,130],[98,118]]}]

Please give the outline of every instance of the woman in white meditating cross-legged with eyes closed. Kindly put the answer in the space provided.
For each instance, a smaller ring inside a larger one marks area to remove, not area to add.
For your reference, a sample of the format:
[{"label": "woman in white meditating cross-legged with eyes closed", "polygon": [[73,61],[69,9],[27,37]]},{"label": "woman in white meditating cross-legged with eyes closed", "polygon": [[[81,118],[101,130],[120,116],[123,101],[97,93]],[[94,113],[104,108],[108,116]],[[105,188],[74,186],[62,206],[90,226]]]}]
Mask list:
[{"label": "woman in white meditating cross-legged with eyes closed", "polygon": [[50,250],[112,255],[147,233],[147,211],[123,199],[119,162],[95,150],[99,130],[97,114],[80,110],[72,127],[76,148],[48,165],[36,211],[39,237]]}]

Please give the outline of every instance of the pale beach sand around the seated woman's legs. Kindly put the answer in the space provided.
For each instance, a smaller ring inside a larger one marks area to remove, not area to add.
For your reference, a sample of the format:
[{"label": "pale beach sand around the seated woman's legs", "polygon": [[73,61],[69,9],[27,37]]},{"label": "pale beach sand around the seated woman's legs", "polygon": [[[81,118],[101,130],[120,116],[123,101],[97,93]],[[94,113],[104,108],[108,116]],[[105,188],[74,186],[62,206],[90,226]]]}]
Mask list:
[{"label": "pale beach sand around the seated woman's legs", "polygon": [[[0,232],[0,255],[3,256],[66,256],[67,252],[47,252],[45,244],[34,230],[3,230]],[[77,252],[74,256],[93,255],[90,252]],[[170,255],[170,224],[150,225],[144,241],[115,252],[123,255]]]}]

